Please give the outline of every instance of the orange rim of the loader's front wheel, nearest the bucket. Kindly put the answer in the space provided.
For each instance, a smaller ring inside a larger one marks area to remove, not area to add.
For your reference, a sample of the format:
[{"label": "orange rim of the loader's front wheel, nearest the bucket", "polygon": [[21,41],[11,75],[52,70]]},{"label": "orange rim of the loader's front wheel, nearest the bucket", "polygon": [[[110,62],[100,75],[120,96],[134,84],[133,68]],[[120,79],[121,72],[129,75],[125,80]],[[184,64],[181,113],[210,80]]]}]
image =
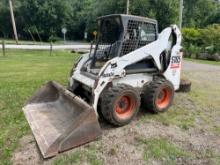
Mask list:
[{"label": "orange rim of the loader's front wheel, nearest the bucket", "polygon": [[115,113],[120,119],[128,119],[135,110],[136,102],[131,96],[121,96],[116,101]]}]

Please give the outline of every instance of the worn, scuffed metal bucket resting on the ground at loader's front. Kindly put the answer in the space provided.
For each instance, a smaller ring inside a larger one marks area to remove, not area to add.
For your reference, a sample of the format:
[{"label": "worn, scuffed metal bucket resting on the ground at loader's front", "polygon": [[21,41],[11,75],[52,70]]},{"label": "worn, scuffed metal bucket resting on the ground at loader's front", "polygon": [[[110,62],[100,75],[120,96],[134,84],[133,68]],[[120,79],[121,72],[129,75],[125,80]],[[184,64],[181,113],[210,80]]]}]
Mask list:
[{"label": "worn, scuffed metal bucket resting on the ground at loader's front", "polygon": [[48,82],[23,107],[44,158],[101,135],[93,108],[56,82]]}]

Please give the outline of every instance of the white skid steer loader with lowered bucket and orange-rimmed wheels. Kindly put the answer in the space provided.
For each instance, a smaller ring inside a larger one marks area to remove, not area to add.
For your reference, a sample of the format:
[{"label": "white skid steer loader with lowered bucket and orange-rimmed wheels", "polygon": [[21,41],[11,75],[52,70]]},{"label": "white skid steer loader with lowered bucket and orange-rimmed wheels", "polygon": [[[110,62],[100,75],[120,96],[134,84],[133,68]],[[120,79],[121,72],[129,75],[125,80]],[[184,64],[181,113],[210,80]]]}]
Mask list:
[{"label": "white skid steer loader with lowered bucket and orange-rimmed wheels", "polygon": [[44,158],[101,135],[98,116],[128,124],[140,105],[165,112],[180,85],[181,32],[132,15],[98,19],[94,50],[71,70],[69,87],[48,82],[23,107]]}]

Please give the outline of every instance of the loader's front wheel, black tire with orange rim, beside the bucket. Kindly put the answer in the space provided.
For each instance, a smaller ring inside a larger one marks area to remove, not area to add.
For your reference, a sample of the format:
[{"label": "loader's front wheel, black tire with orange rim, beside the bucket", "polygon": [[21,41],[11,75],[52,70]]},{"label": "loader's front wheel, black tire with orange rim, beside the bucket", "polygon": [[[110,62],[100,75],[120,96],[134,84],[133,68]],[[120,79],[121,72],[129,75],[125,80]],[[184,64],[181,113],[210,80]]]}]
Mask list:
[{"label": "loader's front wheel, black tire with orange rim, beside the bucket", "polygon": [[110,87],[102,94],[102,116],[115,126],[126,125],[138,113],[140,100],[139,92],[129,85],[118,84]]}]

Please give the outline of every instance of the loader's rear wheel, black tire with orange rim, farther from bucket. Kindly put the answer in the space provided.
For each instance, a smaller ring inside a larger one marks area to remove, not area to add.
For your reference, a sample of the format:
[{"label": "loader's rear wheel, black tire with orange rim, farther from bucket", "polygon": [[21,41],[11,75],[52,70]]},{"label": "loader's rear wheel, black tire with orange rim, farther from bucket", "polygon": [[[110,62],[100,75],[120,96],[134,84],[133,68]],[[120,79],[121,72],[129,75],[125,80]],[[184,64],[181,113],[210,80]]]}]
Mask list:
[{"label": "loader's rear wheel, black tire with orange rim, farther from bucket", "polygon": [[142,105],[151,112],[162,113],[167,111],[172,105],[173,98],[174,87],[163,78],[153,80],[143,87]]}]

